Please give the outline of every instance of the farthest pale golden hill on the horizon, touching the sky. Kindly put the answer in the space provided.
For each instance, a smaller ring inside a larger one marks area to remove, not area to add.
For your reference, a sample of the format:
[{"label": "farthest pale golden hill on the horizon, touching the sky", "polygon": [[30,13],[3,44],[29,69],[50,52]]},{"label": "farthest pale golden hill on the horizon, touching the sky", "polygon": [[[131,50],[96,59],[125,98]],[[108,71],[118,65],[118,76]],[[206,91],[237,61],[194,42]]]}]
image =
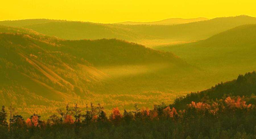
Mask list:
[{"label": "farthest pale golden hill on the horizon, touching the sky", "polygon": [[155,21],[155,22],[120,22],[115,24],[124,24],[124,25],[176,25],[176,24],[185,24],[185,23],[191,23],[191,22],[199,22],[209,20],[207,18],[199,17],[199,18],[190,18],[190,19],[183,19],[183,18],[170,18],[170,19],[164,19],[161,21]]}]

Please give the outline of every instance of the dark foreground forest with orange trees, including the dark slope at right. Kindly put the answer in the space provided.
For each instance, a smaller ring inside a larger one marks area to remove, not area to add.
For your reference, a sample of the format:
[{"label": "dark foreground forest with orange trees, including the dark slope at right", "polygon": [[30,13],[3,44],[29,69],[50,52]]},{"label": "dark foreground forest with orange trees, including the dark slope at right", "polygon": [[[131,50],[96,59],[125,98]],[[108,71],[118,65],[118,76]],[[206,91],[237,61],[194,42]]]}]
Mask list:
[{"label": "dark foreground forest with orange trees, including the dark slope at right", "polygon": [[[255,104],[248,103],[255,99],[254,94],[250,95],[250,92],[255,92],[255,77],[255,72],[246,73],[239,75],[237,80],[220,83],[211,89],[176,99],[170,106],[175,106],[180,109],[179,111],[175,108],[170,109],[164,103],[155,105],[151,110],[139,110],[135,104],[134,114],[132,111],[124,110],[121,115],[119,109],[114,108],[108,119],[103,110],[97,113],[92,103],[90,107],[86,107],[85,113],[80,111],[77,105],[72,113],[67,105],[67,115],[84,114],[82,117],[75,115],[76,123],[58,120],[60,117],[57,115],[52,115],[47,122],[39,121],[40,116],[34,114],[31,118],[38,117],[38,125],[32,126],[25,124],[22,116],[15,115],[12,137],[255,138],[256,107]],[[229,95],[224,94],[230,91],[232,93]],[[103,109],[100,104],[97,109],[99,108]],[[63,115],[60,116],[64,118]],[[0,134],[9,138],[7,126],[1,126]]]}]

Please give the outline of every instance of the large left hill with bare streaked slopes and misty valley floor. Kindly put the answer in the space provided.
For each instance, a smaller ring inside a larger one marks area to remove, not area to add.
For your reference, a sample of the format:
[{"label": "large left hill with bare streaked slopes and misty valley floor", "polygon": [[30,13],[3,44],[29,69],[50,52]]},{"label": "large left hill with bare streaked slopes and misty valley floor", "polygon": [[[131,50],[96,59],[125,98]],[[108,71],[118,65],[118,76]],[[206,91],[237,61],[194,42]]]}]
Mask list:
[{"label": "large left hill with bare streaked slopes and misty valley floor", "polygon": [[82,109],[102,103],[107,112],[135,102],[152,107],[180,95],[159,90],[181,88],[174,76],[194,69],[172,53],[117,39],[71,41],[6,26],[0,32],[0,103],[25,116],[48,117],[76,102]]}]

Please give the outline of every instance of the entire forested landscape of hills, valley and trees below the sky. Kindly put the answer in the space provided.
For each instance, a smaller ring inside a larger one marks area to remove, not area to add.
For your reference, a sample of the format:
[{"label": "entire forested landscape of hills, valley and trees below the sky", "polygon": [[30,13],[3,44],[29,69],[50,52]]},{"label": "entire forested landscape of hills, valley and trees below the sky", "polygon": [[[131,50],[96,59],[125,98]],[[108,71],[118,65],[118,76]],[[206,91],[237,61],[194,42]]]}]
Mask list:
[{"label": "entire forested landscape of hills, valley and trees below the sky", "polygon": [[0,139],[254,139],[255,24],[0,21]]}]

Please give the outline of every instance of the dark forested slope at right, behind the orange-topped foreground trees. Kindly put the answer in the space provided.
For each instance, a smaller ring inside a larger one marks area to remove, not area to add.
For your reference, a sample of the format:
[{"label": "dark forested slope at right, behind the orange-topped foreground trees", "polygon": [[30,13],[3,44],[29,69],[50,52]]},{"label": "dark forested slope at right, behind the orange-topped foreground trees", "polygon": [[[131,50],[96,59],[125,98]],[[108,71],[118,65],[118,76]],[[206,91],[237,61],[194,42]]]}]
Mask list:
[{"label": "dark forested slope at right, behind the orange-topped foreground trees", "polygon": [[246,96],[247,104],[256,104],[256,73],[248,72],[245,75],[239,75],[236,80],[226,83],[218,83],[211,89],[201,92],[191,92],[187,96],[179,97],[174,100],[174,104],[170,107],[184,109],[186,104],[194,102],[212,102],[214,100],[223,99],[223,96]]}]

